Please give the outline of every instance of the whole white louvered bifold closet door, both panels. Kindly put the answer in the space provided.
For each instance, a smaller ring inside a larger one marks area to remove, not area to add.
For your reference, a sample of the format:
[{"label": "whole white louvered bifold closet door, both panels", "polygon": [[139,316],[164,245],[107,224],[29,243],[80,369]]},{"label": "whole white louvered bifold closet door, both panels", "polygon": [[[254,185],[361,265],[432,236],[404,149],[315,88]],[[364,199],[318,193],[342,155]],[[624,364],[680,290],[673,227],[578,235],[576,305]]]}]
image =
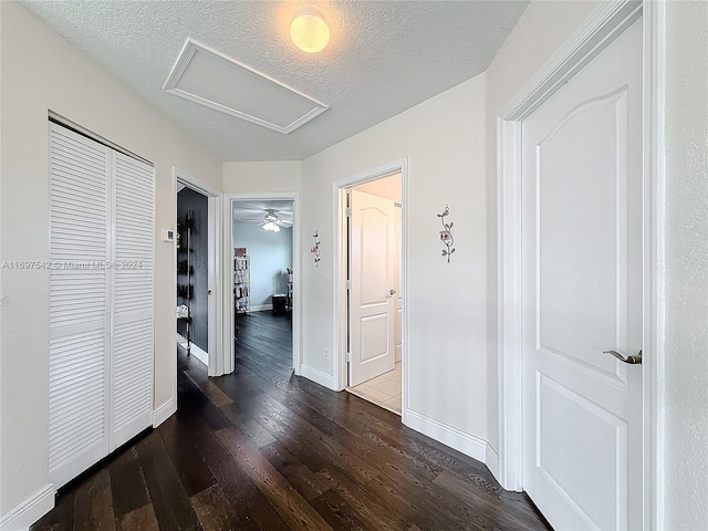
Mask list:
[{"label": "whole white louvered bifold closet door, both panels", "polygon": [[150,166],[50,124],[55,488],[153,424],[154,181]]}]

